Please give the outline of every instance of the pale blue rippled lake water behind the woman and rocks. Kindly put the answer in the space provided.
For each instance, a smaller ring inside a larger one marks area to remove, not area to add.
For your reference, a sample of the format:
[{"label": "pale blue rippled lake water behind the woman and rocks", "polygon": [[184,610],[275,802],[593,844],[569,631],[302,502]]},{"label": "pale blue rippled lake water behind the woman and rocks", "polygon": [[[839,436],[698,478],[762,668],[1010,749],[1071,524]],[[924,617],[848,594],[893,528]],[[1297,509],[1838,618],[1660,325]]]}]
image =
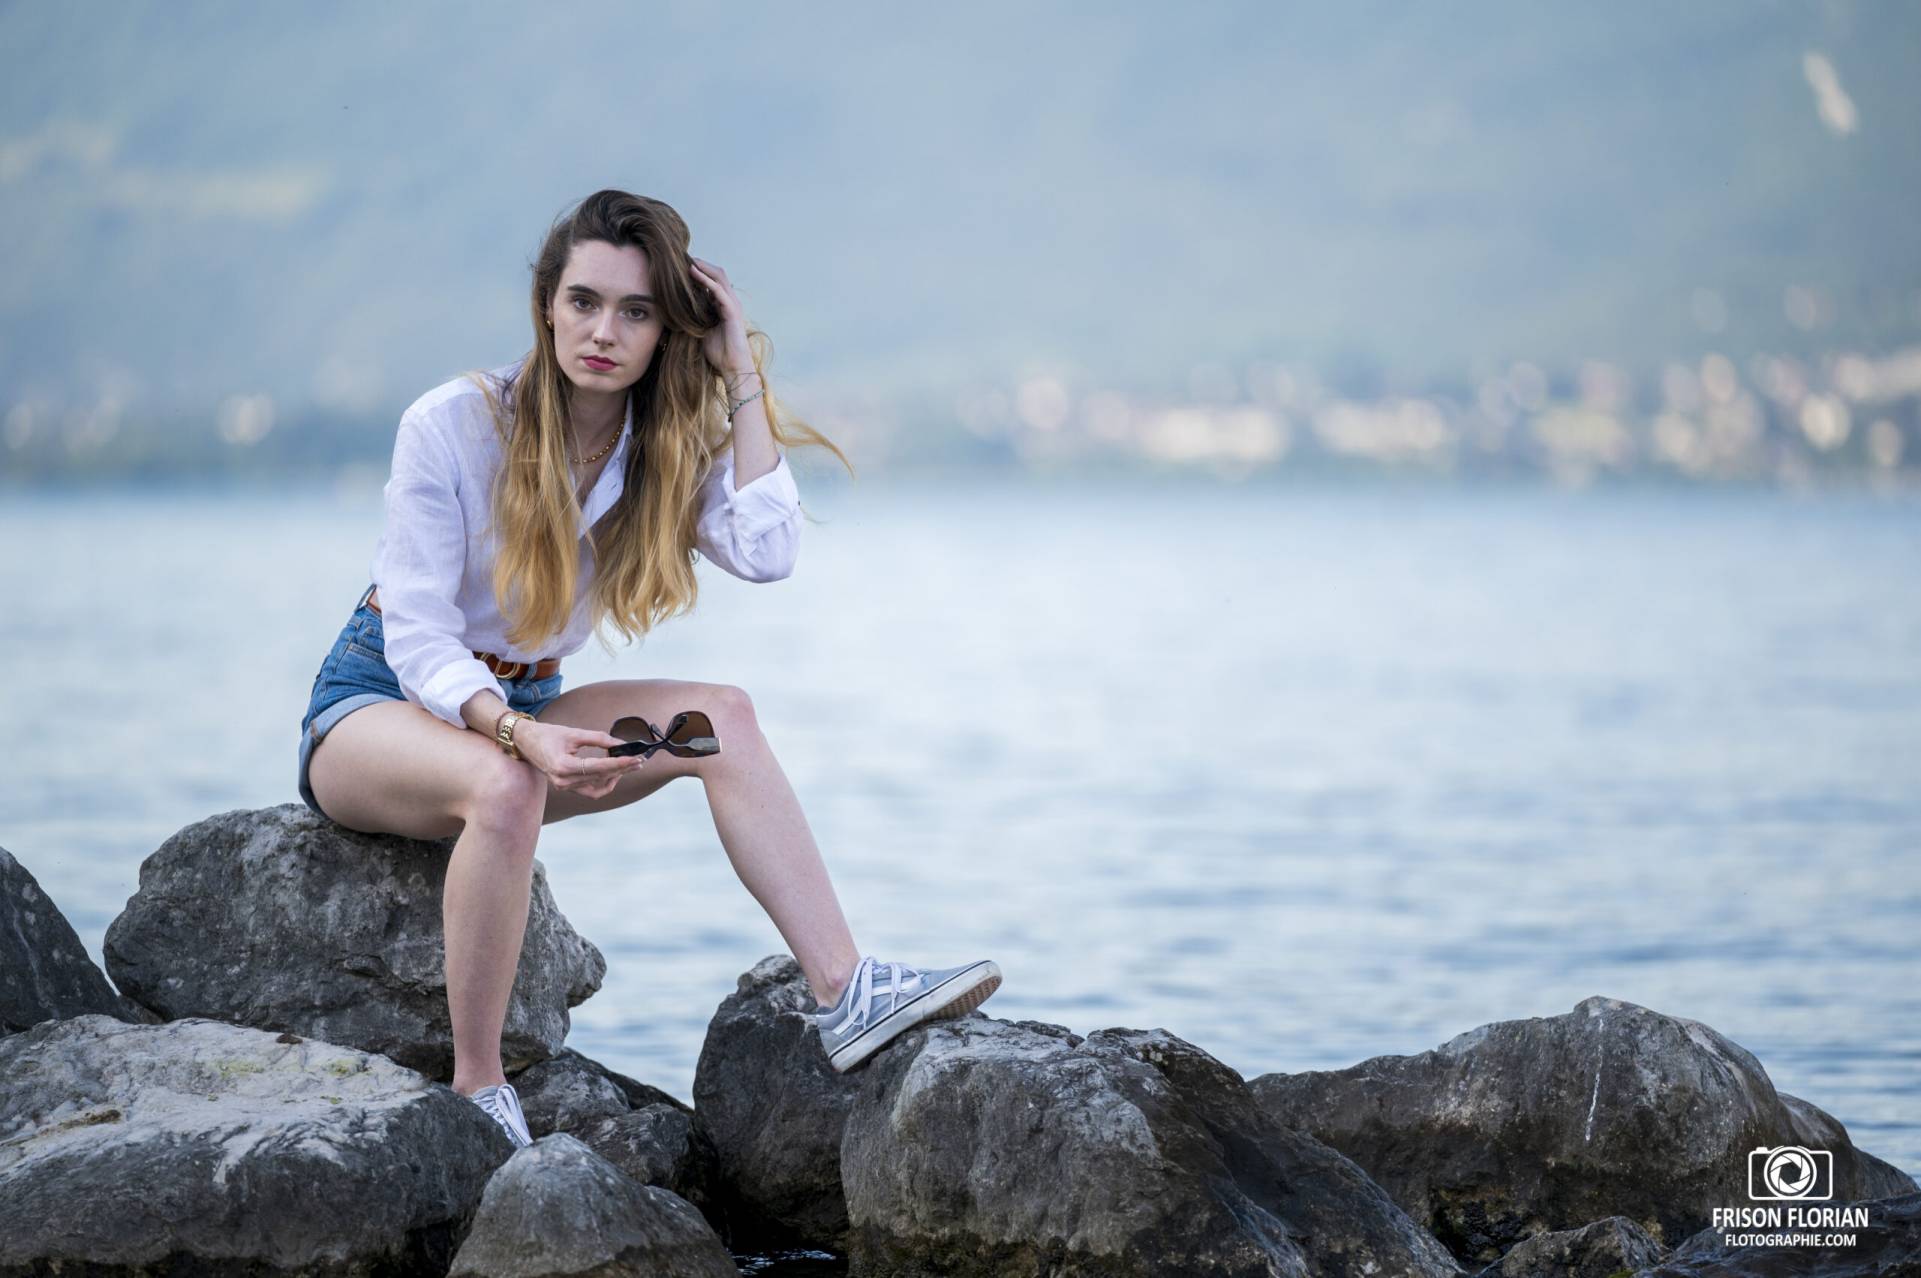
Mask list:
[{"label": "pale blue rippled lake water behind the woman and rocks", "polygon": [[[1604,994],[1704,1020],[1921,1174],[1921,505],[807,482],[795,577],[569,686],[755,698],[882,959],[1247,1076]],[[94,959],[142,857],[298,803],[378,490],[10,496],[0,844]],[[31,663],[31,673],[19,663]],[[688,1097],[782,951],[695,782],[547,826],[607,955],[571,1044]]]}]

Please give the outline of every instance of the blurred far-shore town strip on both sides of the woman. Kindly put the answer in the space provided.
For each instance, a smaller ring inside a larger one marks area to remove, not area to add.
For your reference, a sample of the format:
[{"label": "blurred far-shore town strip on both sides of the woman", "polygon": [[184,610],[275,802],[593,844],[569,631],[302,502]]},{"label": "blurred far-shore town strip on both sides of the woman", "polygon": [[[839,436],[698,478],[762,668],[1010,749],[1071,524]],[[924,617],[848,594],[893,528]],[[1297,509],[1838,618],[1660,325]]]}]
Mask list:
[{"label": "blurred far-shore town strip on both sides of the woman", "polygon": [[[1712,311],[1712,296],[1698,306]],[[1790,313],[1804,307],[1810,325],[1815,306],[1790,290]],[[1397,384],[1368,367],[1329,375],[1254,361],[1197,367],[1178,392],[1047,373],[932,402],[780,392],[866,477],[974,469],[1921,488],[1921,344],[1881,356],[1708,354],[1639,377],[1602,359],[1516,361],[1479,379]],[[115,394],[85,407],[13,404],[0,425],[0,480],[19,490],[298,473],[378,484],[396,415],[294,417],[259,394],[175,421],[144,417]]]}]

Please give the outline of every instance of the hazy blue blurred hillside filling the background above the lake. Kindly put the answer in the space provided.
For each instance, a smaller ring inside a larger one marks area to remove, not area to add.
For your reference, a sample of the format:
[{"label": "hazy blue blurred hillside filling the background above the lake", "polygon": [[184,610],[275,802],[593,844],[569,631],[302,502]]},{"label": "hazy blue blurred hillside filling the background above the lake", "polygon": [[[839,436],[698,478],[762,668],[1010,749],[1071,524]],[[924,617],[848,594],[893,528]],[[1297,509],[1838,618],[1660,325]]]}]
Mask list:
[{"label": "hazy blue blurred hillside filling the background above the lake", "polygon": [[603,184],[874,465],[1921,455],[1921,8],[728,13],[0,12],[4,479],[378,465]]}]

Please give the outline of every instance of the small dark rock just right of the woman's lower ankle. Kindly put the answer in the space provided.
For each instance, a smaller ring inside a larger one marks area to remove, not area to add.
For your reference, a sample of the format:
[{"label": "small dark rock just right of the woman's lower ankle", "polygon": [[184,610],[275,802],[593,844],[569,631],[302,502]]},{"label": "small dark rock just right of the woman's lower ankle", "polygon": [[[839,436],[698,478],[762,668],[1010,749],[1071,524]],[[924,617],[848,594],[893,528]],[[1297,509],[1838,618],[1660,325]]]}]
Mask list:
[{"label": "small dark rock just right of the woman's lower ankle", "polygon": [[572,1047],[513,1080],[528,1130],[576,1136],[640,1184],[672,1190],[720,1222],[718,1159],[693,1109]]}]

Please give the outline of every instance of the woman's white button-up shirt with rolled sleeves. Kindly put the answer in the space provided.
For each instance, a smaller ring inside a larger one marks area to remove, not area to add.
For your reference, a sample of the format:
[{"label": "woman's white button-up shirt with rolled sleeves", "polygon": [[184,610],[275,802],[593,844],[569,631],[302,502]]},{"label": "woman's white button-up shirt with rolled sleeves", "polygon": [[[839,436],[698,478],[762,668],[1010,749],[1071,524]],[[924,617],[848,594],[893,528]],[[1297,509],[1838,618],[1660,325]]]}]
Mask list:
[{"label": "woman's white button-up shirt with rolled sleeves", "polygon": [[[501,379],[519,361],[490,369]],[[494,602],[492,482],[499,438],[486,396],[457,377],[415,400],[400,417],[394,469],[386,480],[386,523],[373,552],[371,578],[380,592],[386,663],[409,701],[465,728],[461,705],[482,688],[501,701],[507,690],[474,657],[492,651],[507,661],[567,657],[592,638],[588,586],[594,546],[588,530],[626,486],[626,452],[634,432],[628,396],[620,442],[580,511],[580,577],[567,628],[540,651],[507,642],[507,621]],[[695,548],[734,577],[780,580],[793,573],[801,500],[786,455],[736,492],[734,450],[722,452],[699,490]]]}]

